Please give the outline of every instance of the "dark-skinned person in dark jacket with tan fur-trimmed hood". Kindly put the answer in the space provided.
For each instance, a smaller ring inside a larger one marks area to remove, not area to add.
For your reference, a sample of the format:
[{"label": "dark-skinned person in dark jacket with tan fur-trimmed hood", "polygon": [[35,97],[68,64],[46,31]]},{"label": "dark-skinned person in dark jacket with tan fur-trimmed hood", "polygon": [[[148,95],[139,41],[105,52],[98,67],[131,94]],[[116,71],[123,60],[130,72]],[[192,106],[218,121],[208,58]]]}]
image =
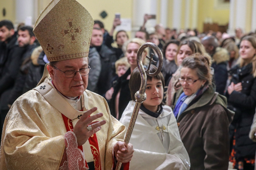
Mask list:
[{"label": "dark-skinned person in dark jacket with tan fur-trimmed hood", "polygon": [[[228,51],[220,48],[217,38],[205,36],[201,40],[206,52],[213,58],[211,67],[214,68],[214,79],[216,92],[223,95],[228,79],[227,62],[229,60]],[[217,48],[218,47],[218,48]]]}]

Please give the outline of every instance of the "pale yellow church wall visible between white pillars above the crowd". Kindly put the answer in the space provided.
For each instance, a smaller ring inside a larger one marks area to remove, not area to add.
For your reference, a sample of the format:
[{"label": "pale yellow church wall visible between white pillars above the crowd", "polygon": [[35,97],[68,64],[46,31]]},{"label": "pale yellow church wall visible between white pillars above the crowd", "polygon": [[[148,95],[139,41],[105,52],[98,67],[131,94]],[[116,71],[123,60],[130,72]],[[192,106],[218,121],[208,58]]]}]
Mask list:
[{"label": "pale yellow church wall visible between white pillars above the crowd", "polygon": [[[0,20],[9,19],[15,22],[15,1],[16,0],[0,0]],[[42,10],[47,6],[47,4],[51,0],[35,0],[38,2],[38,15],[42,12]],[[113,19],[115,17],[115,13],[120,13],[121,18],[129,18],[132,19],[132,11],[133,11],[133,1],[134,0],[77,0],[80,2],[85,8],[91,13],[92,18],[94,20],[100,20],[104,23],[105,29],[108,31],[111,30]],[[182,1],[182,9],[181,9],[181,28],[185,28],[185,2]],[[197,16],[197,29],[199,31],[203,30],[203,23],[206,18],[211,18],[213,22],[218,23],[219,25],[225,25],[229,21],[229,8],[216,8],[216,2],[219,0],[191,0],[190,1],[190,18],[189,25],[192,28],[192,20],[193,20],[193,3],[197,2],[198,6],[198,16]],[[247,1],[247,13],[246,13],[246,31],[250,30],[251,25],[251,13],[252,9],[250,8],[252,5],[252,0]],[[160,16],[160,3],[161,0],[157,0],[157,15]],[[168,0],[168,11],[167,11],[167,27],[172,28],[172,9],[173,9],[173,0]],[[2,16],[2,9],[6,8],[6,16]],[[105,10],[108,14],[106,18],[101,18],[100,13]],[[157,23],[159,23],[160,18],[157,17]],[[141,23],[142,24],[142,23]],[[192,28],[194,29],[194,28]],[[130,32],[128,33],[130,35]],[[115,35],[115,33],[114,33]]]}]

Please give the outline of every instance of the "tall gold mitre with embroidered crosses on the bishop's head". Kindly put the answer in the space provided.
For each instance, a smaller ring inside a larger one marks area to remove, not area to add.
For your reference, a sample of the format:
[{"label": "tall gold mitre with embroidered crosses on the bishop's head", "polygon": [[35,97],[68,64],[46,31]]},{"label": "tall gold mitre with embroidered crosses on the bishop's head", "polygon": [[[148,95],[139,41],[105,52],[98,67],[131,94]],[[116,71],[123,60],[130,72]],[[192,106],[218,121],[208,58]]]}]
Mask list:
[{"label": "tall gold mitre with embroidered crosses on the bishop's head", "polygon": [[37,18],[34,34],[49,61],[88,57],[94,21],[75,0],[53,0]]}]

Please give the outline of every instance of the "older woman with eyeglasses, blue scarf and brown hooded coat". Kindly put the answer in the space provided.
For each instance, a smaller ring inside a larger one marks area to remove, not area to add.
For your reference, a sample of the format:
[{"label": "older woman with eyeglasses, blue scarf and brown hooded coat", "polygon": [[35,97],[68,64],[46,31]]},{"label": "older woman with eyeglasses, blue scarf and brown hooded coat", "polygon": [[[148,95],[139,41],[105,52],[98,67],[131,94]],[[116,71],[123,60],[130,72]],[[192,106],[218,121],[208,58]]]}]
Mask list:
[{"label": "older woman with eyeglasses, blue scarf and brown hooded coat", "polygon": [[215,92],[209,58],[199,53],[181,63],[182,88],[174,101],[181,140],[189,154],[190,169],[228,169],[228,126],[233,113],[227,99]]}]

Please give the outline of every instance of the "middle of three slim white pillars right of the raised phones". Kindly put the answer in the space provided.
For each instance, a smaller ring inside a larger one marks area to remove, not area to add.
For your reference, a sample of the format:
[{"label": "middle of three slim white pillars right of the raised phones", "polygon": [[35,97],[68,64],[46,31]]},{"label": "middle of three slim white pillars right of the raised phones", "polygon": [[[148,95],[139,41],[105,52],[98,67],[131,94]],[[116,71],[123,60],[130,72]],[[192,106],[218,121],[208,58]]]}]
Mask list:
[{"label": "middle of three slim white pillars right of the raised phones", "polygon": [[173,28],[181,29],[181,0],[173,0]]}]

